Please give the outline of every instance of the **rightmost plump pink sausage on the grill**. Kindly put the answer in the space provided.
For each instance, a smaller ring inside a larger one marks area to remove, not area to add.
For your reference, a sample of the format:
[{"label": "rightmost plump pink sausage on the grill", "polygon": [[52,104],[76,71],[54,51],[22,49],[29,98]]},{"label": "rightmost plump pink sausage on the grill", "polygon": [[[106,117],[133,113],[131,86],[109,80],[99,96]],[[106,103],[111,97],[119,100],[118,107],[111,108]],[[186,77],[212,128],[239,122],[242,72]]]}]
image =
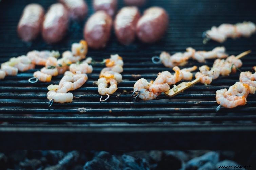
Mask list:
[{"label": "rightmost plump pink sausage on the grill", "polygon": [[136,26],[138,38],[145,43],[159,40],[168,27],[168,14],[163,8],[151,7],[139,19]]}]

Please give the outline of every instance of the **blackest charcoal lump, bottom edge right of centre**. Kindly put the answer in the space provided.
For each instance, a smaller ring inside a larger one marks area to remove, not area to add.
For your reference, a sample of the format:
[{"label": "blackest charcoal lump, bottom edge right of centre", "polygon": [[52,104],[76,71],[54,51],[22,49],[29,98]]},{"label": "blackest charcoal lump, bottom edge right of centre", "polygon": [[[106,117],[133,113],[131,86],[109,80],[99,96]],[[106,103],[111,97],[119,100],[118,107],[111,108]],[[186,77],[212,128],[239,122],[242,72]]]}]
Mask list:
[{"label": "blackest charcoal lump, bottom edge right of centre", "polygon": [[160,162],[158,162],[155,170],[170,169],[170,167],[172,167],[172,170],[181,169],[182,162],[177,157],[166,155]]}]

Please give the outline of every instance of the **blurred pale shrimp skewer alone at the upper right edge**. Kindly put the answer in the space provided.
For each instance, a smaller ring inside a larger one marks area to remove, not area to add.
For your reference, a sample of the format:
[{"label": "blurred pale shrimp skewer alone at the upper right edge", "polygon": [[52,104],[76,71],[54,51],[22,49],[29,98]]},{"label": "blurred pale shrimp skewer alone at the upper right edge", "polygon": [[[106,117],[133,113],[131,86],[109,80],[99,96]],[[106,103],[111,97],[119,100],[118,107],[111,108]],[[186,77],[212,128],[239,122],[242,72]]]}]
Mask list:
[{"label": "blurred pale shrimp skewer alone at the upper right edge", "polygon": [[208,40],[212,39],[219,43],[223,43],[227,38],[237,37],[250,37],[256,31],[256,26],[252,22],[243,22],[232,24],[221,24],[219,27],[213,26],[211,30],[206,31],[203,36],[205,44]]}]

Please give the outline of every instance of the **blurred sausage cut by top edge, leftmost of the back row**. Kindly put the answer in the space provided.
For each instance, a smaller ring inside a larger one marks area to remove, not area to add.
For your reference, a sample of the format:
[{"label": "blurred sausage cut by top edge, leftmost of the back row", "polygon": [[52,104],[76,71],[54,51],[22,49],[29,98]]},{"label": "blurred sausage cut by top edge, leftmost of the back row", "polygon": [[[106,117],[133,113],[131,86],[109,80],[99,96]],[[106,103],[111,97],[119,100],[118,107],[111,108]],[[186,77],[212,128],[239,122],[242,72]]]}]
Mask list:
[{"label": "blurred sausage cut by top edge, leftmost of the back row", "polygon": [[82,20],[88,13],[88,6],[84,0],[59,0],[69,11],[70,18]]}]

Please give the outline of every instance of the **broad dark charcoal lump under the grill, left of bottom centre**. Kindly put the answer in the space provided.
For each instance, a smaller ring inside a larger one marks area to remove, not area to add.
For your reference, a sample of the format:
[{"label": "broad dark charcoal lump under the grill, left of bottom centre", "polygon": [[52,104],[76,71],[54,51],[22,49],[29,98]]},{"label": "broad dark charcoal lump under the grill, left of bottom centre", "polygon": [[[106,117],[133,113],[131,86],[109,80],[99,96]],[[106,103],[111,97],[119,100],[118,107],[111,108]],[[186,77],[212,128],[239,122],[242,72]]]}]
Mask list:
[{"label": "broad dark charcoal lump under the grill, left of bottom centre", "polygon": [[121,170],[120,161],[108,152],[100,152],[84,165],[84,170]]}]

